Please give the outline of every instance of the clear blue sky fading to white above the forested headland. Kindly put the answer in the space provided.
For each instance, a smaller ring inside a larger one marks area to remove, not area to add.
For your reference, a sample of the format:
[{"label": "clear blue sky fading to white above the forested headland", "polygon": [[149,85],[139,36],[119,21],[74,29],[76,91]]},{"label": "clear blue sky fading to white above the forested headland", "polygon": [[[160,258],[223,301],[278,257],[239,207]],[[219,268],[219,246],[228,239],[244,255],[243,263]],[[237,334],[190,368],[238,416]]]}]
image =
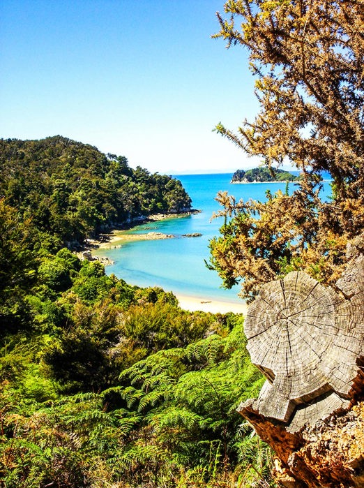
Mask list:
[{"label": "clear blue sky fading to white above the forested headland", "polygon": [[61,134],[132,167],[230,172],[256,161],[213,127],[254,117],[223,0],[0,0],[0,137]]}]

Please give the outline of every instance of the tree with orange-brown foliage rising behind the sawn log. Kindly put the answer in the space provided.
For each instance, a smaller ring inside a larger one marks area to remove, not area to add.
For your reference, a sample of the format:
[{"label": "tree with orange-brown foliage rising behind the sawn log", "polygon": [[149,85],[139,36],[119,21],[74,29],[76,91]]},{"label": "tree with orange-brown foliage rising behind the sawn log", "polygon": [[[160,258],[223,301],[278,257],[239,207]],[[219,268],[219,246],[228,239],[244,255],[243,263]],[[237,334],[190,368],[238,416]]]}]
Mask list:
[{"label": "tree with orange-brown foliage rising behind the sawn log", "polygon": [[[211,242],[213,266],[227,286],[245,276],[245,297],[291,269],[331,283],[347,240],[364,228],[364,3],[230,0],[225,13],[231,17],[218,13],[213,37],[248,48],[260,112],[237,134],[216,129],[268,167],[288,161],[303,171],[303,182],[291,197],[271,196],[266,205],[220,195],[222,214],[234,219]],[[329,202],[319,198],[322,171],[333,179]],[[291,216],[285,223],[282,209]]]}]

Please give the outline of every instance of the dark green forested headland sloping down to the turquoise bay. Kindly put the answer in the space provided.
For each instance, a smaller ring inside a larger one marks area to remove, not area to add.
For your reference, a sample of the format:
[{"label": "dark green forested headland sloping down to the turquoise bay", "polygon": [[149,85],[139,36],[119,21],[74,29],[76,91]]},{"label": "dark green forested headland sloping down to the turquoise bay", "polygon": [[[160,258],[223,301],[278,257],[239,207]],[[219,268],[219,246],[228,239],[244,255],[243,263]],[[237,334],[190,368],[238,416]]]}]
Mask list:
[{"label": "dark green forested headland sloping down to the turquoise bay", "polygon": [[138,216],[191,209],[178,180],[59,135],[0,140],[0,195],[68,246]]}]

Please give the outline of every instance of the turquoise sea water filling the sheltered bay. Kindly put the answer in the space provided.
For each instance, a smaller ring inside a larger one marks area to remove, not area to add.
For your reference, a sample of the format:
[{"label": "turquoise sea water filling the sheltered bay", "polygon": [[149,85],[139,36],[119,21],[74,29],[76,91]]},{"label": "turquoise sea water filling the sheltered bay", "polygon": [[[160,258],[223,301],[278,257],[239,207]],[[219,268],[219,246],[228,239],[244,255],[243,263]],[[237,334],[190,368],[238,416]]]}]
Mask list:
[{"label": "turquoise sea water filling the sheltered bay", "polygon": [[[265,200],[266,190],[272,193],[285,191],[285,183],[231,184],[231,173],[218,175],[181,175],[185,190],[192,198],[192,206],[202,212],[195,215],[165,219],[138,225],[130,233],[163,232],[176,235],[174,239],[134,241],[123,244],[119,249],[98,251],[108,256],[114,265],[106,268],[107,274],[114,273],[130,284],[138,286],[160,286],[165,291],[180,295],[199,297],[202,300],[241,302],[239,286],[231,290],[222,288],[222,280],[215,271],[209,270],[204,260],[209,260],[209,240],[219,235],[222,218],[213,219],[213,212],[220,206],[215,201],[218,191],[228,191],[236,200],[249,198]],[[289,193],[294,183],[289,184]],[[324,184],[324,195],[330,192]],[[201,237],[182,237],[183,234],[200,232]]]}]

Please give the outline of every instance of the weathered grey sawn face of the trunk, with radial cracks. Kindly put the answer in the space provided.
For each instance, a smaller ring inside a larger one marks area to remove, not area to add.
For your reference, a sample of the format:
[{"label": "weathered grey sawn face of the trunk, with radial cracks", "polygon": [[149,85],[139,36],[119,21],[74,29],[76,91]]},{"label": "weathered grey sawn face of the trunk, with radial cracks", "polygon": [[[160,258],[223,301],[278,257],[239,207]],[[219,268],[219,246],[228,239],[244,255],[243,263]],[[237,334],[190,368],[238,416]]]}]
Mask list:
[{"label": "weathered grey sawn face of the trunk, with radial cracks", "polygon": [[349,407],[364,355],[363,255],[354,253],[337,286],[342,293],[291,272],[261,288],[245,334],[267,380],[258,399],[238,408],[248,420],[253,412],[295,432]]}]

